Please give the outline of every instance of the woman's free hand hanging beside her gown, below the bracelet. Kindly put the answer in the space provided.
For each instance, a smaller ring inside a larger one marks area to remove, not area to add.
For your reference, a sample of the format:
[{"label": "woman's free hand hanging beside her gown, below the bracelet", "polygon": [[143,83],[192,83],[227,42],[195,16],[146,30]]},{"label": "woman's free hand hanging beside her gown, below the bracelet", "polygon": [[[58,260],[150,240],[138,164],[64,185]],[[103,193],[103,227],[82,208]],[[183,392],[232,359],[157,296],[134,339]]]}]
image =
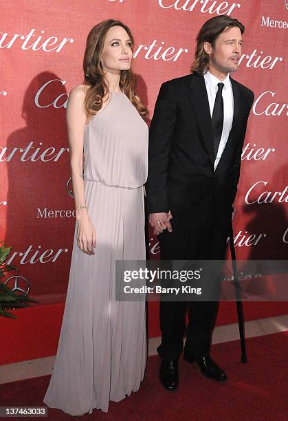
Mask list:
[{"label": "woman's free hand hanging beside her gown, below the bracelet", "polygon": [[81,214],[76,215],[78,224],[77,245],[87,255],[94,255],[93,247],[96,247],[96,230],[89,218],[87,210],[80,209],[80,211]]}]

